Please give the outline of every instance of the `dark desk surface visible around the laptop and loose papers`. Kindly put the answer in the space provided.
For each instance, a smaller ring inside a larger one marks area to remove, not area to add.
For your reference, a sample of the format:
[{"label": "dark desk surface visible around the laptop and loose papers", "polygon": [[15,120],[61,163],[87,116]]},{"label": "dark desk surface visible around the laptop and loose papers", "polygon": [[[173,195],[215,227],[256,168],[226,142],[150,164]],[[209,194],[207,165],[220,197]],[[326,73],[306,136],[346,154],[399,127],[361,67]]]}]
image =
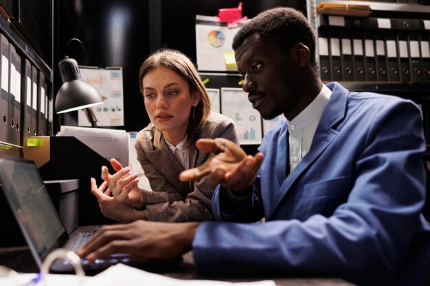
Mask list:
[{"label": "dark desk surface visible around the laptop and loose papers", "polygon": [[[97,226],[80,226],[78,231],[86,232]],[[280,277],[258,277],[258,278],[223,278],[217,276],[201,276],[194,271],[194,265],[190,254],[185,254],[183,262],[174,270],[168,272],[157,272],[172,278],[179,279],[212,279],[231,282],[245,282],[245,281],[260,281],[260,280],[273,280],[276,285],[283,286],[354,286],[341,279],[336,278],[280,278]],[[30,253],[27,246],[17,246],[11,248],[0,248],[0,265],[12,268],[16,272],[35,273],[38,272],[36,262]]]}]

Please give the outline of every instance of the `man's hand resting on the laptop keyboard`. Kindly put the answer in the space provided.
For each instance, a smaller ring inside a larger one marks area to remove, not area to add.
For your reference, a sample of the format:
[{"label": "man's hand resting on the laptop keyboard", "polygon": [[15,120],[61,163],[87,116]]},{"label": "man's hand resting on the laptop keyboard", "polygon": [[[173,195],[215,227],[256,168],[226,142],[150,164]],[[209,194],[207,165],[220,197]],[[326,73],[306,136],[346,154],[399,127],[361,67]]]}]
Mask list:
[{"label": "man's hand resting on the laptop keyboard", "polygon": [[198,226],[198,222],[168,224],[142,220],[104,226],[77,254],[89,261],[118,252],[150,259],[179,257],[191,250]]}]

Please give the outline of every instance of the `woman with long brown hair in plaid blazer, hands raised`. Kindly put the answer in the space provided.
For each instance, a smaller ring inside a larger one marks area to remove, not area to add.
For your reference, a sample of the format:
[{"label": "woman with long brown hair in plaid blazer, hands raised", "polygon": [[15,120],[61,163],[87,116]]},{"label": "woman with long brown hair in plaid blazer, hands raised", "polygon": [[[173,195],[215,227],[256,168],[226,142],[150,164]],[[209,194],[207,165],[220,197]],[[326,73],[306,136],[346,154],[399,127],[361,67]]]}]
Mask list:
[{"label": "woman with long brown hair in plaid blazer, hands raised", "polygon": [[204,180],[181,182],[179,174],[213,156],[197,150],[197,139],[222,137],[238,143],[236,124],[210,111],[210,99],[196,67],[179,51],[153,53],[142,64],[139,84],[151,123],[137,134],[135,148],[152,191],[139,189],[138,174],[130,174],[130,168],[112,159],[117,173],[110,175],[102,167],[105,181],[100,187],[91,179],[100,210],[118,222],[212,219],[214,187]]}]

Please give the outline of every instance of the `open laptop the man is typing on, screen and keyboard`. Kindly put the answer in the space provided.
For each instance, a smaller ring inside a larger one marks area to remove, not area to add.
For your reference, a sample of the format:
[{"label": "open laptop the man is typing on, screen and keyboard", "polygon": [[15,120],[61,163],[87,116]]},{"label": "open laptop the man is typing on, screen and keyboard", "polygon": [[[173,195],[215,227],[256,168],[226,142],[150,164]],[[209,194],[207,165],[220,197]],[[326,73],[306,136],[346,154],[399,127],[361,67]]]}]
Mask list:
[{"label": "open laptop the man is typing on, screen and keyboard", "polygon": [[[78,228],[70,236],[67,235],[65,226],[45,189],[41,175],[31,160],[0,154],[0,184],[0,189],[14,213],[39,270],[49,252],[56,248],[76,252],[102,227],[94,228],[93,233],[80,233]],[[181,261],[181,257],[135,259],[128,254],[117,253],[112,254],[108,259],[98,259],[94,262],[81,259],[81,265],[87,275],[93,275],[117,263],[157,271],[177,266]],[[73,273],[74,270],[69,261],[58,259],[52,265],[51,272]]]}]

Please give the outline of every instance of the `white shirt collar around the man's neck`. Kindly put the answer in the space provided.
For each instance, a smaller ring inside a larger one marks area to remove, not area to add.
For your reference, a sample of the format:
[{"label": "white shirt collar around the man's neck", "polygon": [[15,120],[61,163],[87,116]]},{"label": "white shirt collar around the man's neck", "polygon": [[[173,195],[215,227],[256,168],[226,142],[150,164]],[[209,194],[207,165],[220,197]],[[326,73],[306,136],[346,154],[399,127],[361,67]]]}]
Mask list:
[{"label": "white shirt collar around the man's neck", "polygon": [[323,84],[323,87],[321,88],[321,91],[319,91],[317,97],[315,97],[315,99],[313,99],[313,101],[310,102],[310,104],[306,106],[306,108],[304,108],[304,110],[302,110],[299,115],[297,115],[291,121],[288,121],[288,119],[286,120],[288,122],[288,126],[293,124],[295,125],[295,130],[299,130],[319,119],[322,116],[324,108],[326,108],[326,104],[331,95],[332,91],[330,91],[330,88]]}]

